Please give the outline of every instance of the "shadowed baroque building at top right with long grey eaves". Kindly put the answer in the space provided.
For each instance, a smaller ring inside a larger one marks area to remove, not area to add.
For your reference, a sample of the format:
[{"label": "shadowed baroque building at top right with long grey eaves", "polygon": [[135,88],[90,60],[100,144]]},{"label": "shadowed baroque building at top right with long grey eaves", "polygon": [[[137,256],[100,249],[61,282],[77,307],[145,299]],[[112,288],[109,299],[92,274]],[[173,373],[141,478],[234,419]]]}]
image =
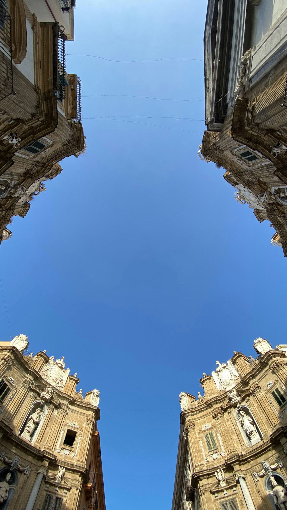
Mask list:
[{"label": "shadowed baroque building at top right with long grey eaves", "polygon": [[[206,131],[199,157],[224,167],[235,198],[275,228],[287,257],[287,5],[208,0]],[[247,207],[247,206],[246,206]]]}]

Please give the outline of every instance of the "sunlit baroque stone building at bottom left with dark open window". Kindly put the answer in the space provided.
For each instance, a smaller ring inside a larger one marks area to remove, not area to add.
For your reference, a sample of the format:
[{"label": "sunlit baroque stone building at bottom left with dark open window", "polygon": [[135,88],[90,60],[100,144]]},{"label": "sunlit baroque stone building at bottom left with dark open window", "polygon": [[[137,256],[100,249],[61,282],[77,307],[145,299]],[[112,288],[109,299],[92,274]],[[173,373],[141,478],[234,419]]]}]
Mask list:
[{"label": "sunlit baroque stone building at bottom left with dark open window", "polygon": [[105,510],[100,392],[27,348],[25,335],[0,342],[0,508]]}]

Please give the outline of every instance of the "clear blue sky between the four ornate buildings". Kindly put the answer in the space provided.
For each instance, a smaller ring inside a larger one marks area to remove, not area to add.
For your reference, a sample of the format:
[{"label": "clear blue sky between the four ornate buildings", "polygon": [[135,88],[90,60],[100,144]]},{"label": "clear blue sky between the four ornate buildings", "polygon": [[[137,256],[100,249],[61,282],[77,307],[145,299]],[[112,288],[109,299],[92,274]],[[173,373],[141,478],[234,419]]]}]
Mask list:
[{"label": "clear blue sky between the four ornate buildings", "polygon": [[[202,59],[206,5],[79,0],[66,51]],[[82,79],[83,117],[204,119],[201,101],[84,97],[204,99],[202,62],[68,56],[67,70]],[[83,393],[101,391],[107,510],[169,510],[178,395],[197,395],[233,350],[253,354],[258,336],[285,343],[286,266],[269,223],[199,160],[204,122],[125,120],[83,119],[86,153],[14,218],[0,274],[12,337],[64,355]],[[1,300],[0,311],[9,340]]]}]

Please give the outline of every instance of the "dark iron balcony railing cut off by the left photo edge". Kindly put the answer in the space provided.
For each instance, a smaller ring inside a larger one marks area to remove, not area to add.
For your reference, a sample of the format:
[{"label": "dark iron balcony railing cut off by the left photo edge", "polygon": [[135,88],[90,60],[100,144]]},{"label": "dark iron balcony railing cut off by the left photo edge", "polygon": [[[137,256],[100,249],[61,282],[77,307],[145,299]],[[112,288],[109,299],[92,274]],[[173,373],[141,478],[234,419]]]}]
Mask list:
[{"label": "dark iron balcony railing cut off by the left photo edge", "polygon": [[15,94],[13,85],[11,16],[7,5],[0,0],[0,101]]}]

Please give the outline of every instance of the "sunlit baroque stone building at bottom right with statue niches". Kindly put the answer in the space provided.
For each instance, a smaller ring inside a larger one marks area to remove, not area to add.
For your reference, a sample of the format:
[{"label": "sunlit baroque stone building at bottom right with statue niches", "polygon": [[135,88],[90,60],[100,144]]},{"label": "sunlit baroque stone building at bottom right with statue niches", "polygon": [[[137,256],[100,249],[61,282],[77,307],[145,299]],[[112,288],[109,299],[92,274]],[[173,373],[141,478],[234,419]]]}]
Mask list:
[{"label": "sunlit baroque stone building at bottom right with statue niches", "polygon": [[287,345],[254,341],[179,395],[172,510],[287,508]]}]

